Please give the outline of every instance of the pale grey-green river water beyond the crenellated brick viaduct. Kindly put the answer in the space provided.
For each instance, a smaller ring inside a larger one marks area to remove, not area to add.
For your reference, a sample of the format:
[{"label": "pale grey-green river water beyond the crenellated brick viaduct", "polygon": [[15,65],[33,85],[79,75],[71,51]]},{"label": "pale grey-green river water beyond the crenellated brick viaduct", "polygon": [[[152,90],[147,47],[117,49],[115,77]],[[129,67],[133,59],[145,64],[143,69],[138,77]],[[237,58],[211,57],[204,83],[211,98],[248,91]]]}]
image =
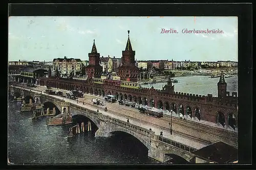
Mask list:
[{"label": "pale grey-green river water beyond the crenellated brick viaduct", "polygon": [[[218,86],[220,78],[209,78],[208,76],[188,76],[188,77],[176,77],[178,83],[174,83],[174,90],[177,92],[191,93],[198,95],[212,94],[212,96],[218,96]],[[238,92],[238,76],[225,78],[227,83],[227,91]],[[156,83],[154,88],[162,89],[166,83]],[[151,88],[150,84],[141,85],[142,87]]]}]

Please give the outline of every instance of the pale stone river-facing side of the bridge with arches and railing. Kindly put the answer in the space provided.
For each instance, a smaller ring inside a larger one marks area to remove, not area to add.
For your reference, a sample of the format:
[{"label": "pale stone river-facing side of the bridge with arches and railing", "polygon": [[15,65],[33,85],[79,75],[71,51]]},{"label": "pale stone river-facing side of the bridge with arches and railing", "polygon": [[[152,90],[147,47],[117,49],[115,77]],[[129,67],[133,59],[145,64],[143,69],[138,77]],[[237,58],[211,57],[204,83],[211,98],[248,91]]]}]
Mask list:
[{"label": "pale stone river-facing side of the bridge with arches and railing", "polygon": [[72,114],[72,116],[83,115],[89,118],[98,128],[95,132],[95,136],[109,137],[112,133],[117,131],[130,134],[143,143],[148,150],[148,156],[157,161],[164,162],[168,160],[165,154],[174,154],[187,162],[196,163],[196,155],[191,153],[196,150],[195,148],[156,135],[154,131],[144,129],[73,103],[65,102],[65,100],[55,98],[54,96],[39,91],[31,91],[20,87],[12,87],[10,90],[12,95],[19,93],[23,99],[29,96],[34,102],[42,104],[51,102],[61,113]]}]

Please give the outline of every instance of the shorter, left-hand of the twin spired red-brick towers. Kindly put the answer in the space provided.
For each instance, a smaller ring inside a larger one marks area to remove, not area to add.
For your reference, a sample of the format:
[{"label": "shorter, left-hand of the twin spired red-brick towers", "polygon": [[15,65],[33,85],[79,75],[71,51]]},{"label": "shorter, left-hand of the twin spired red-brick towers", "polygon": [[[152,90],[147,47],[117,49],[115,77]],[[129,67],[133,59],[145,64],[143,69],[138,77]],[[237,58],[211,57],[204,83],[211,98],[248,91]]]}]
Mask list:
[{"label": "shorter, left-hand of the twin spired red-brick towers", "polygon": [[93,40],[92,52],[88,54],[89,65],[85,68],[88,78],[100,78],[102,74],[102,66],[99,65],[99,53],[95,45],[95,40]]}]

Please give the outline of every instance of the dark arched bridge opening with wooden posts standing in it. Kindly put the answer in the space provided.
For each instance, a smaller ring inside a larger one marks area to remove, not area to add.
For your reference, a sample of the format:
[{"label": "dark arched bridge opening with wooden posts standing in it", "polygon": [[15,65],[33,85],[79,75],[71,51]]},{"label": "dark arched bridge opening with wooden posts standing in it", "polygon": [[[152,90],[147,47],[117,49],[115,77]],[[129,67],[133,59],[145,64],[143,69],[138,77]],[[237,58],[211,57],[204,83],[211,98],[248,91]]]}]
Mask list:
[{"label": "dark arched bridge opening with wooden posts standing in it", "polygon": [[98,130],[98,127],[93,123],[93,121],[81,114],[76,114],[74,116],[72,116],[73,122],[72,122],[72,127],[79,124],[79,128],[81,131],[81,124],[82,122],[84,123],[84,132],[88,133],[88,124],[89,122],[91,123],[91,129],[92,131],[89,131],[90,134],[92,134],[92,136],[95,136],[95,132]]}]

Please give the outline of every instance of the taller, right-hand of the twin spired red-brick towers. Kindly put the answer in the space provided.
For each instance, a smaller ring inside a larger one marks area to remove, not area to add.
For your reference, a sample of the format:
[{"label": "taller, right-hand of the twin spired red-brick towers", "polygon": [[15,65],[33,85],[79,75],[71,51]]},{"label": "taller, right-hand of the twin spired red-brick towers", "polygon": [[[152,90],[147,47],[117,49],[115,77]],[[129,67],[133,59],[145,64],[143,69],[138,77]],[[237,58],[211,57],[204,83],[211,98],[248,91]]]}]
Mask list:
[{"label": "taller, right-hand of the twin spired red-brick towers", "polygon": [[122,66],[118,67],[118,74],[122,81],[137,82],[139,68],[135,66],[135,51],[133,51],[129,33],[130,31],[128,31],[125,51],[122,51]]}]

